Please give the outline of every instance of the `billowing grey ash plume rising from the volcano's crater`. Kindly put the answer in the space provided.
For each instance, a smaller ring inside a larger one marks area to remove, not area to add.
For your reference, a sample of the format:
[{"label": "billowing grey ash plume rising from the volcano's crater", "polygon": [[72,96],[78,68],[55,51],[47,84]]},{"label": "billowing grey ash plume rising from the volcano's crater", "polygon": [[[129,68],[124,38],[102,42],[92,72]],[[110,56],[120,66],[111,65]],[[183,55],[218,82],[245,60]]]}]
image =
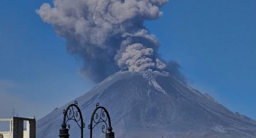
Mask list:
[{"label": "billowing grey ash plume rising from the volcano's crater", "polygon": [[161,16],[167,0],[53,0],[37,14],[84,60],[82,71],[99,82],[120,68],[165,70],[155,35],[143,23]]}]

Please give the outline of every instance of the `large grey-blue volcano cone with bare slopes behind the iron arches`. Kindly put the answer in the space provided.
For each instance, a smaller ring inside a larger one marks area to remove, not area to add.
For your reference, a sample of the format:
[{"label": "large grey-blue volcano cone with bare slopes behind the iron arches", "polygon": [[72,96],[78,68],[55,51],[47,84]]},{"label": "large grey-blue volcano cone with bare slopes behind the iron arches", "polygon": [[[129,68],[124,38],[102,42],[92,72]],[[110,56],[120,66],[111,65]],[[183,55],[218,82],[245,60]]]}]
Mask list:
[{"label": "large grey-blue volcano cone with bare slopes behind the iron arches", "polygon": [[[75,100],[86,126],[96,103],[106,107],[117,138],[256,137],[256,121],[231,112],[170,73],[119,71]],[[37,121],[37,137],[58,137],[63,109],[70,103]],[[89,136],[87,127],[84,133]],[[78,128],[70,128],[70,137],[79,134]]]}]

